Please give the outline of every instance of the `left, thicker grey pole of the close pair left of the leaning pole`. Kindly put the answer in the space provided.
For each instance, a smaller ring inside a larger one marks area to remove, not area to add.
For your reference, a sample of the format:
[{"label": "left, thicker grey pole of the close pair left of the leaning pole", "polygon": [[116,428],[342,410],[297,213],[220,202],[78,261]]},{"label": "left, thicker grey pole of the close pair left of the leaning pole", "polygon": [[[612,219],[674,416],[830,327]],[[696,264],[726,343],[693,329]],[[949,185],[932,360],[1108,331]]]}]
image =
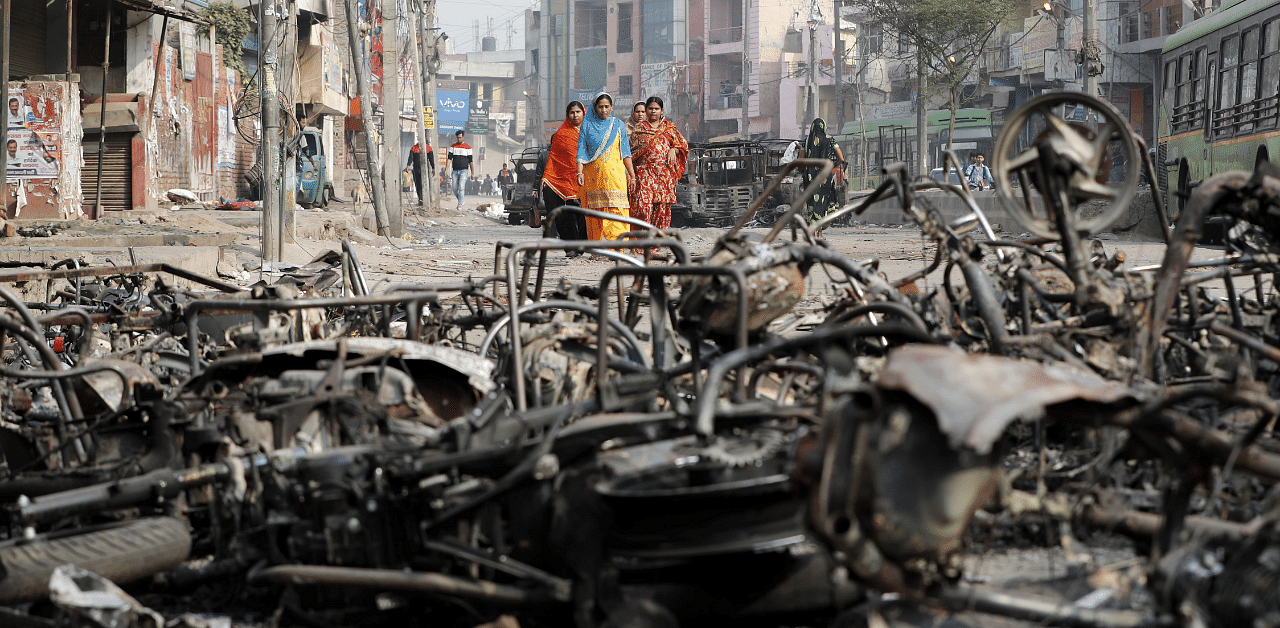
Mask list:
[{"label": "left, thicker grey pole of the close pair left of the leaning pole", "polygon": [[[262,261],[280,261],[280,102],[276,100],[275,70],[279,51],[275,33],[279,8],[275,0],[259,5],[262,26],[261,75],[257,81],[262,114]],[[264,265],[265,270],[265,265]]]}]

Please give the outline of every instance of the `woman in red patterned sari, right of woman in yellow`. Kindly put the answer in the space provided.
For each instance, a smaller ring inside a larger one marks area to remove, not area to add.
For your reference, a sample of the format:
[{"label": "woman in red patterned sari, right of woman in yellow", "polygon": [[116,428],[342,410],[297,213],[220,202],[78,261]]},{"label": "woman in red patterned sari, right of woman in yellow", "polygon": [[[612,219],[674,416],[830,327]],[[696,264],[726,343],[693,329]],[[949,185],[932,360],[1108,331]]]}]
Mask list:
[{"label": "woman in red patterned sari, right of woman in yellow", "polygon": [[645,122],[636,124],[631,141],[631,159],[636,168],[631,217],[668,229],[671,205],[676,202],[676,183],[685,175],[689,142],[671,120],[663,118],[662,98],[650,97],[645,102]]}]

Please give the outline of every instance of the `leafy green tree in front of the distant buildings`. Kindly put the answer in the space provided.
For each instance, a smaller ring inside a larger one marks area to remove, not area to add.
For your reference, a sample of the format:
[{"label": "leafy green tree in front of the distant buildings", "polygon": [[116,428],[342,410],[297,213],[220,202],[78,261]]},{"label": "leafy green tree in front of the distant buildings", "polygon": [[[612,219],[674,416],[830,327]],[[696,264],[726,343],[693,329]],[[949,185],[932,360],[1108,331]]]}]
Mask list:
[{"label": "leafy green tree in front of the distant buildings", "polygon": [[950,148],[960,88],[978,70],[991,38],[1014,17],[1019,5],[1014,0],[852,0],[852,6],[868,22],[878,22],[886,31],[897,33],[913,49],[914,55],[906,61],[914,65],[919,77],[916,138],[918,164],[923,170],[928,147],[924,110],[931,93],[927,86],[934,86],[932,93],[950,96]]}]

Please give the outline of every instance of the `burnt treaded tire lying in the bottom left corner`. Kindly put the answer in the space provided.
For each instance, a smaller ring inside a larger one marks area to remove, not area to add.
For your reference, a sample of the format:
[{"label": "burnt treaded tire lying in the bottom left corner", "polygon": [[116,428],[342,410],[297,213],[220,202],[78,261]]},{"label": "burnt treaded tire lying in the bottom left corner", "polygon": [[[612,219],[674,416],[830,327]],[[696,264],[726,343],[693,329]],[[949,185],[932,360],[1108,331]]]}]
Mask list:
[{"label": "burnt treaded tire lying in the bottom left corner", "polygon": [[49,595],[54,569],[74,564],[122,583],[182,564],[191,551],[187,523],[152,517],[88,531],[70,531],[0,545],[0,604]]}]

